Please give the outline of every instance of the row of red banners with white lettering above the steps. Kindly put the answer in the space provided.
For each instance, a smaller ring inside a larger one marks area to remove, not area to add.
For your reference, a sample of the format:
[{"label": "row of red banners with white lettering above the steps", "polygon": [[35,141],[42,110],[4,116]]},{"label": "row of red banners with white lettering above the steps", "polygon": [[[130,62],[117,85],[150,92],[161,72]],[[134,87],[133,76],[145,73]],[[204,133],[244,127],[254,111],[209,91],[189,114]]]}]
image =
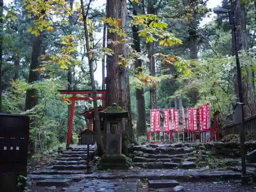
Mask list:
[{"label": "row of red banners with white lettering above the steps", "polygon": [[[179,111],[170,108],[163,110],[164,115],[164,131],[179,130]],[[204,104],[198,109],[187,108],[187,123],[185,110],[182,108],[183,127],[182,131],[197,131],[197,121],[199,119],[199,130],[203,131],[210,127],[210,108],[209,103]],[[187,126],[186,126],[187,125]],[[151,132],[161,131],[160,110],[151,110]]]}]

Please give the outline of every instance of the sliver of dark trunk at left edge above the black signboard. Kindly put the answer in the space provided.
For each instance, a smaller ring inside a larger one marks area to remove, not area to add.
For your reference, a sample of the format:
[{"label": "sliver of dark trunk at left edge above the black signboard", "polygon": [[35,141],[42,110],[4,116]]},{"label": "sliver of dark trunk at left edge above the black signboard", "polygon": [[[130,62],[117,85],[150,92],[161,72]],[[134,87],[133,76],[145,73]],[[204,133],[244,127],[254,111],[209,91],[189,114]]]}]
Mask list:
[{"label": "sliver of dark trunk at left edge above the black signboard", "polygon": [[2,112],[2,64],[3,64],[3,9],[4,0],[0,0],[0,113]]}]

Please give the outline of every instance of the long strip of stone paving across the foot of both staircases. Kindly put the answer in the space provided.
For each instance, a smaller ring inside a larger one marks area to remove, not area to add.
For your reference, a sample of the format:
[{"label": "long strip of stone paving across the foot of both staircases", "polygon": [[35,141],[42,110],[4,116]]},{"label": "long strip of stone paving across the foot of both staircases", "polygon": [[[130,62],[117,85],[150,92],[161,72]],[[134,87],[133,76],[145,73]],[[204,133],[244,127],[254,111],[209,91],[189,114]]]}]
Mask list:
[{"label": "long strip of stone paving across the foot of both staircases", "polygon": [[[64,172],[62,172],[64,173]],[[72,173],[72,172],[71,172]],[[209,169],[143,169],[136,172],[98,172],[93,174],[69,174],[69,175],[29,175],[31,179],[42,180],[49,178],[65,178],[73,180],[81,179],[149,179],[149,180],[177,180],[186,182],[239,180],[241,173],[232,170],[209,170]]]}]

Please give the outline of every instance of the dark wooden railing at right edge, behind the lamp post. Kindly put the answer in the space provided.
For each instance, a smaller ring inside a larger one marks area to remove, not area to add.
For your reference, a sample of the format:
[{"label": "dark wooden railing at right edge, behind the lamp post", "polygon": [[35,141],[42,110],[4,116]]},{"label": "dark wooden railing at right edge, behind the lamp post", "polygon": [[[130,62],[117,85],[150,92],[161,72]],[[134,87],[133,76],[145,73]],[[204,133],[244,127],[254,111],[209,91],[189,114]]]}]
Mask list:
[{"label": "dark wooden railing at right edge, behind the lamp post", "polygon": [[[256,134],[256,115],[245,118],[245,135]],[[229,124],[222,128],[221,132],[223,136],[229,134],[240,134],[240,124]]]}]

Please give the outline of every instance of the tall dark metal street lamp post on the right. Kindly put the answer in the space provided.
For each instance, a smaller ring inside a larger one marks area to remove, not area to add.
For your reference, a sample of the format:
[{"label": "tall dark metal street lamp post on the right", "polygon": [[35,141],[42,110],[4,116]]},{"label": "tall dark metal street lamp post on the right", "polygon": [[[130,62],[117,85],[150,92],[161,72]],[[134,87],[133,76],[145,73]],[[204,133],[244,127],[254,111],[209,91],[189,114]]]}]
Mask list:
[{"label": "tall dark metal street lamp post on the right", "polygon": [[[236,6],[238,5],[238,1],[236,0]],[[241,164],[242,164],[242,178],[241,183],[246,184],[248,182],[248,176],[246,174],[246,161],[245,161],[245,133],[244,133],[244,103],[243,103],[243,92],[242,92],[242,76],[241,76],[241,67],[238,55],[238,39],[237,39],[237,28],[236,28],[236,20],[234,18],[234,9],[228,10],[223,8],[214,8],[214,13],[216,14],[227,14],[229,15],[229,22],[231,24],[231,31],[233,35],[233,44],[234,44],[234,53],[236,56],[236,66],[237,66],[237,78],[238,78],[238,96],[239,102],[237,102],[238,106],[241,109],[242,122],[240,129],[240,155],[241,155]]]}]

